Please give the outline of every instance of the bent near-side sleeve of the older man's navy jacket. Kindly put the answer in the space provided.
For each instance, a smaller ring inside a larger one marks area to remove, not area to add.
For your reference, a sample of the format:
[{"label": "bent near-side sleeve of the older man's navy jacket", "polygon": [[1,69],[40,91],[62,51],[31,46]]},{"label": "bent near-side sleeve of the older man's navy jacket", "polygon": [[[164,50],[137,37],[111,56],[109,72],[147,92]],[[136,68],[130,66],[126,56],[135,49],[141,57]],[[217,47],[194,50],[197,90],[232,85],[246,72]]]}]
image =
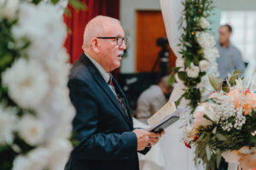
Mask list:
[{"label": "bent near-side sleeve of the older man's navy jacket", "polygon": [[88,160],[124,159],[137,152],[137,136],[132,132],[97,132],[98,108],[90,82],[70,80],[70,99],[76,108],[73,131],[79,145],[73,150],[73,156]]}]

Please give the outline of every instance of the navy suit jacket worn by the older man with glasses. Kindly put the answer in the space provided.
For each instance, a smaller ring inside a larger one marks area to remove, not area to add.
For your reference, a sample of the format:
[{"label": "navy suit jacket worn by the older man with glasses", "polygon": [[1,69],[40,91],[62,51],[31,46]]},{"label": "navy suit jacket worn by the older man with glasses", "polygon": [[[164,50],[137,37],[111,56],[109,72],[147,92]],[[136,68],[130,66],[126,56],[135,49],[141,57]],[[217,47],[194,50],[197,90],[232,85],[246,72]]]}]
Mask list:
[{"label": "navy suit jacket worn by the older man with glasses", "polygon": [[[125,98],[114,79],[113,85]],[[138,170],[137,136],[131,132],[133,124],[127,99],[129,117],[85,54],[73,64],[67,86],[77,111],[73,131],[79,144],[65,169]]]}]

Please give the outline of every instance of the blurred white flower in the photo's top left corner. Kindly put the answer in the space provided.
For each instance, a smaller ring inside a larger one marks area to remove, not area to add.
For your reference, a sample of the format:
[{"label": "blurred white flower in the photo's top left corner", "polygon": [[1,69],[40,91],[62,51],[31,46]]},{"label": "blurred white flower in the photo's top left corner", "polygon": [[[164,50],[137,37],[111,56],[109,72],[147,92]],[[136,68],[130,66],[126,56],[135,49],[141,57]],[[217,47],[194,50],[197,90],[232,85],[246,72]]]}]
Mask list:
[{"label": "blurred white flower in the photo's top left corner", "polygon": [[19,0],[1,0],[0,15],[3,14],[9,20],[15,19],[15,14],[19,7]]}]

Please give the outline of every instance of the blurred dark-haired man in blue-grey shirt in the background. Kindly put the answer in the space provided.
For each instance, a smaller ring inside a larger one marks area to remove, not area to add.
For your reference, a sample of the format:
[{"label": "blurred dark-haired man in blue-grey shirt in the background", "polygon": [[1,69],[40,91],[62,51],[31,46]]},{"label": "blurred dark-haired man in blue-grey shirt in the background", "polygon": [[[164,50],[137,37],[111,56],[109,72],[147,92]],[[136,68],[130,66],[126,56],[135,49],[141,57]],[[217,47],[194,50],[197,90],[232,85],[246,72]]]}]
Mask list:
[{"label": "blurred dark-haired man in blue-grey shirt in the background", "polygon": [[234,70],[244,72],[245,65],[241,59],[241,52],[230,42],[232,27],[230,25],[220,26],[218,33],[217,48],[220,57],[216,61],[220,77],[227,78],[228,73]]}]

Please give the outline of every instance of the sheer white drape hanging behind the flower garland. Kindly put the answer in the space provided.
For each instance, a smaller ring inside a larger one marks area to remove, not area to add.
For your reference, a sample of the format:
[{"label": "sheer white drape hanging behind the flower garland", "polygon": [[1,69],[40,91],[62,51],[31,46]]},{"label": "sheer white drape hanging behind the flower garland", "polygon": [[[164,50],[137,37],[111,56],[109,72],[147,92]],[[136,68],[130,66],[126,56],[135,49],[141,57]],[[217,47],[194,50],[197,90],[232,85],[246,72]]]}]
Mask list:
[{"label": "sheer white drape hanging behind the flower garland", "polygon": [[[177,46],[178,39],[181,36],[181,30],[178,29],[178,20],[183,14],[183,0],[160,0],[161,11],[166,26],[166,34],[170,47],[177,56],[176,65],[180,65],[182,55],[179,54]],[[177,85],[172,91],[170,100],[177,100],[182,94],[183,82],[177,80]],[[187,102],[182,100],[182,107],[186,107]],[[182,130],[181,122],[175,122],[171,127],[166,129],[166,134],[162,139],[163,156],[166,162],[165,170],[199,170],[202,167],[195,167],[194,150],[186,148],[181,140]]]}]

